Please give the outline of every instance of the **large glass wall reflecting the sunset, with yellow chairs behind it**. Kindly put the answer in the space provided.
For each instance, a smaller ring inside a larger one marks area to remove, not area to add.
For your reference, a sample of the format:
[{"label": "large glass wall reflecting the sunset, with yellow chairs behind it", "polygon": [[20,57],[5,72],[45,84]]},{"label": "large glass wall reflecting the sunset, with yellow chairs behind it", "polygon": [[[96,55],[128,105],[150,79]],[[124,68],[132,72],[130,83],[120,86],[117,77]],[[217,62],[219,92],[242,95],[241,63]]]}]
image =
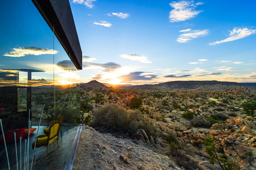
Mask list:
[{"label": "large glass wall reflecting the sunset, with yellow chairs behind it", "polygon": [[[5,0],[0,9],[0,119],[10,169],[17,161],[18,169],[64,169],[80,123],[79,70],[33,2]],[[8,160],[1,131],[1,170]]]}]

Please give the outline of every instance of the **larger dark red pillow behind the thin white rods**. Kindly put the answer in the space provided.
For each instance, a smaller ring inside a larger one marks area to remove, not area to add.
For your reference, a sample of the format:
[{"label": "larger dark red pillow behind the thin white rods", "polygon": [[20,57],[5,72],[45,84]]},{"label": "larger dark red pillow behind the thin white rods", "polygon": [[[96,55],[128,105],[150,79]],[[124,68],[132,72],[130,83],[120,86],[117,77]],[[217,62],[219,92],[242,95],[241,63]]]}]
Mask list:
[{"label": "larger dark red pillow behind the thin white rods", "polygon": [[[6,143],[14,142],[14,135],[13,133],[16,132],[16,141],[19,141],[19,137],[21,137],[21,140],[23,140],[23,133],[25,128],[23,129],[15,129],[15,130],[9,130],[4,131],[4,138]],[[3,144],[3,137],[0,140],[0,144]]]}]

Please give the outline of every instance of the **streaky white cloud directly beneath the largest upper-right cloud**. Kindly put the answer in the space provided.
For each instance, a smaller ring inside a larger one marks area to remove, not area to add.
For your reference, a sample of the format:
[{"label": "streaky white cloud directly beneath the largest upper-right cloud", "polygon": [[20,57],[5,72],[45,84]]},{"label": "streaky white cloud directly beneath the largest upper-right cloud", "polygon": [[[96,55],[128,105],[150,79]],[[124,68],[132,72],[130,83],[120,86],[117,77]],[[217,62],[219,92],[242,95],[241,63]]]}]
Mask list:
[{"label": "streaky white cloud directly beneath the largest upper-right cloud", "polygon": [[206,36],[207,34],[209,34],[209,30],[194,30],[194,31],[190,31],[188,33],[185,34],[181,34],[179,36],[179,38],[177,38],[176,41],[183,43],[183,42],[187,42],[189,40],[192,40],[193,38],[199,38],[202,36]]}]

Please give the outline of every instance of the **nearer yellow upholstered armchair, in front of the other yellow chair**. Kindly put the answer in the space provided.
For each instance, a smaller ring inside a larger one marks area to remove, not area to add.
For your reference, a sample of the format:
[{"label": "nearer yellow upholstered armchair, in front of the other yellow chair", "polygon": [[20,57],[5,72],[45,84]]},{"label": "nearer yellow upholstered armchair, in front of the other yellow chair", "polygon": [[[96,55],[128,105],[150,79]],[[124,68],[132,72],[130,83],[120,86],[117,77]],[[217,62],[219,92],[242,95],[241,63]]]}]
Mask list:
[{"label": "nearer yellow upholstered armchair, in front of the other yellow chair", "polygon": [[49,127],[49,135],[39,135],[37,137],[37,141],[34,141],[32,143],[32,149],[34,149],[35,142],[36,142],[36,148],[39,148],[41,146],[47,146],[48,153],[49,151],[49,144],[52,143],[54,140],[57,139],[57,143],[59,145],[59,128],[60,128],[60,122],[54,121],[54,123]]}]

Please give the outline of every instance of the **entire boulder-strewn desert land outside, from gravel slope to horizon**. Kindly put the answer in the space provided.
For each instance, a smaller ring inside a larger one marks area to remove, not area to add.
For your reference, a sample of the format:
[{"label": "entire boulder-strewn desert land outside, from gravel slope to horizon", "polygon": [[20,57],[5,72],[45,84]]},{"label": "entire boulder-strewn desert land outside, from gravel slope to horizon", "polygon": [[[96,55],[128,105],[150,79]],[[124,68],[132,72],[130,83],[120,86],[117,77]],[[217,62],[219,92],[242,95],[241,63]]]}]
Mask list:
[{"label": "entire boulder-strewn desert land outside, from gravel slope to horizon", "polygon": [[[80,85],[87,134],[74,169],[256,169],[255,87],[218,81],[108,86]],[[91,152],[100,165],[83,159]]]}]

